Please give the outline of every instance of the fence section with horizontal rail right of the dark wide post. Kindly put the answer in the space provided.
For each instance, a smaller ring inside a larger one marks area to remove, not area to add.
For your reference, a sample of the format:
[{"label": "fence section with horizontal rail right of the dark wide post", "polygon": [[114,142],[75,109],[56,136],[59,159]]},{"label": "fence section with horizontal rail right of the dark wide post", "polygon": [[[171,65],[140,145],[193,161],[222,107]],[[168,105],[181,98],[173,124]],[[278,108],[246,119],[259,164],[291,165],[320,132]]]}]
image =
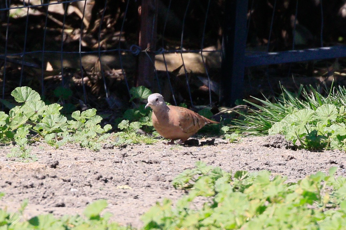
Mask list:
[{"label": "fence section with horizontal rail right of the dark wide post", "polygon": [[[273,82],[279,80],[289,82],[292,88],[300,83],[343,81],[345,63],[339,58],[346,57],[345,7],[344,1],[248,1],[243,11],[247,19],[237,22],[247,22],[247,29],[239,32],[247,37],[244,62],[235,60],[231,66],[245,68],[249,80],[245,80],[245,86],[252,92],[265,91],[264,81],[259,82],[258,78],[266,79],[266,91],[272,93]],[[234,44],[234,47],[241,45]],[[239,75],[234,77],[236,80],[232,81],[239,82]],[[239,84],[238,88],[243,90]]]}]

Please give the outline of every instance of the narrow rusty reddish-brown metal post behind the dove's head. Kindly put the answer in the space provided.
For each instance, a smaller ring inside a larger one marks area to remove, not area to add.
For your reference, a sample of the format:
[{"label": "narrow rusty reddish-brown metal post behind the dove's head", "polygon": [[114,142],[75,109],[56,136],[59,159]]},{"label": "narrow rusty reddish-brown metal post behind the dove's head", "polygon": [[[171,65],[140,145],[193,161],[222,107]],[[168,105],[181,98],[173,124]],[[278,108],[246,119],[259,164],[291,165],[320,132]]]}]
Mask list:
[{"label": "narrow rusty reddish-brown metal post behind the dove's head", "polygon": [[[156,50],[156,26],[157,26],[157,3],[158,0],[142,0],[138,7],[139,14],[139,39],[138,45],[142,51]],[[154,77],[155,53],[140,52],[138,54],[136,86],[152,88]],[[152,61],[151,61],[151,60]]]}]

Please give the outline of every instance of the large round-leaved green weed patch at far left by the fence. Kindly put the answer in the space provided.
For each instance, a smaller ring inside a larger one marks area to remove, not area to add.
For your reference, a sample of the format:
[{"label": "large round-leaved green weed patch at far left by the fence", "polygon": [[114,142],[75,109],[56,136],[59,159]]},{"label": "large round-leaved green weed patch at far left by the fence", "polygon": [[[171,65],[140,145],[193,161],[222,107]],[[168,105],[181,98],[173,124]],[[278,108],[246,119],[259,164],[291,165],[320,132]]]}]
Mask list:
[{"label": "large round-leaved green weed patch at far left by the fence", "polygon": [[28,144],[36,140],[44,140],[56,148],[67,142],[77,142],[82,147],[99,150],[110,136],[106,132],[112,127],[109,124],[100,126],[102,119],[95,109],[75,111],[72,113],[74,120],[67,120],[60,113],[59,104],[46,105],[29,87],[18,87],[11,95],[21,105],[13,107],[9,114],[0,112],[0,142],[16,143],[8,157],[36,159],[28,148]]}]

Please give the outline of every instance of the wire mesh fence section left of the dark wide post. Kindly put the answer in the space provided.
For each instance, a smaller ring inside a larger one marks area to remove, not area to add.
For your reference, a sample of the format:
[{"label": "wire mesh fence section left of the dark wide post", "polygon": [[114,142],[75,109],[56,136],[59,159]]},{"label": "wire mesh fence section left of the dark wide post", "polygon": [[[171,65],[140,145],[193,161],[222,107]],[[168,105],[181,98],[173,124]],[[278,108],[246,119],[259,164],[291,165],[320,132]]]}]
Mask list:
[{"label": "wire mesh fence section left of the dark wide post", "polygon": [[46,100],[122,108],[130,88],[144,85],[175,104],[211,104],[221,8],[210,0],[1,1],[2,100],[30,86]]}]

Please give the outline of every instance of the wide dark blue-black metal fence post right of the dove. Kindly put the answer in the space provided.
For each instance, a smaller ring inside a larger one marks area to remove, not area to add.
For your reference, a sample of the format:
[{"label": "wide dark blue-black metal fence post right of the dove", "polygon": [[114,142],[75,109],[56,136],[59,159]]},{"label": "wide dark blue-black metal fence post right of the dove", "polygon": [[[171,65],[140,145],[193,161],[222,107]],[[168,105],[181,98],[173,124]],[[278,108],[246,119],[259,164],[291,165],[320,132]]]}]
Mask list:
[{"label": "wide dark blue-black metal fence post right of the dove", "polygon": [[220,102],[231,106],[243,97],[247,0],[225,1]]}]

